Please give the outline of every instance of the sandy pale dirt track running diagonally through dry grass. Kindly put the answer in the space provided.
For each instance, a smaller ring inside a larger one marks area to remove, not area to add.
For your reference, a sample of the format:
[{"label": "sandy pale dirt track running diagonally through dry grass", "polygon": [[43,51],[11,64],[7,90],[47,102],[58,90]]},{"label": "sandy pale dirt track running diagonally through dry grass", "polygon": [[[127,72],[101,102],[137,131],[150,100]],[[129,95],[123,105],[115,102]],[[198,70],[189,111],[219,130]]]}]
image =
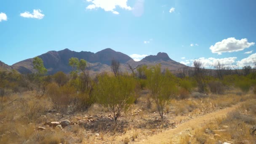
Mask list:
[{"label": "sandy pale dirt track running diagonally through dry grass", "polygon": [[224,117],[225,115],[227,115],[228,112],[234,110],[240,104],[241,103],[238,103],[236,105],[233,105],[232,107],[227,107],[225,109],[220,109],[218,111],[193,118],[191,120],[188,120],[187,122],[177,125],[177,128],[163,131],[162,133],[158,133],[156,135],[147,137],[147,139],[144,139],[135,143],[136,144],[141,144],[141,143],[142,144],[168,144],[171,141],[172,144],[179,144],[180,137],[184,136],[184,134],[189,134],[191,131],[193,131],[192,128],[199,128],[207,124],[211,120],[215,120],[218,117]]}]

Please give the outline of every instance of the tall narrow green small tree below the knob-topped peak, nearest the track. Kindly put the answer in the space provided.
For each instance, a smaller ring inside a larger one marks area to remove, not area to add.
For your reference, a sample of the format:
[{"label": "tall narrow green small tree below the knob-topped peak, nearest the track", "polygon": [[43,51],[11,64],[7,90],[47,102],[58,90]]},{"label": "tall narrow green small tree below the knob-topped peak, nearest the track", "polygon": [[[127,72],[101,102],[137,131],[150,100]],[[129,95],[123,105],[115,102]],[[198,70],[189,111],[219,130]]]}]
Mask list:
[{"label": "tall narrow green small tree below the knob-topped peak, nearest the track", "polygon": [[176,85],[172,81],[173,77],[168,69],[165,70],[165,74],[163,75],[160,64],[147,71],[148,88],[162,120],[165,106],[177,92]]}]

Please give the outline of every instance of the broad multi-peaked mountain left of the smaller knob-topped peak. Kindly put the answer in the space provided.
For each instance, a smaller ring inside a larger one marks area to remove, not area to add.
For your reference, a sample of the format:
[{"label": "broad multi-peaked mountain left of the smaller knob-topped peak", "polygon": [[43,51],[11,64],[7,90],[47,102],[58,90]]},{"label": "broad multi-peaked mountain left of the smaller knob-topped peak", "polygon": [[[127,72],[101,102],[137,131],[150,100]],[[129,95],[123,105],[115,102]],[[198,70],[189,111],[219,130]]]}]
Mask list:
[{"label": "broad multi-peaked mountain left of the smaller knob-topped peak", "polygon": [[[66,48],[62,51],[49,51],[38,57],[43,59],[44,66],[46,69],[48,69],[48,74],[54,74],[58,71],[69,73],[72,70],[72,68],[68,65],[71,57],[85,59],[88,61],[88,64],[93,71],[99,72],[104,71],[104,69],[109,67],[112,59],[120,61],[121,64],[124,64],[127,61],[133,61],[131,57],[123,53],[116,52],[110,48],[104,49],[97,53],[87,51],[75,52]],[[13,64],[12,67],[23,74],[33,72],[33,59],[20,61]]]}]

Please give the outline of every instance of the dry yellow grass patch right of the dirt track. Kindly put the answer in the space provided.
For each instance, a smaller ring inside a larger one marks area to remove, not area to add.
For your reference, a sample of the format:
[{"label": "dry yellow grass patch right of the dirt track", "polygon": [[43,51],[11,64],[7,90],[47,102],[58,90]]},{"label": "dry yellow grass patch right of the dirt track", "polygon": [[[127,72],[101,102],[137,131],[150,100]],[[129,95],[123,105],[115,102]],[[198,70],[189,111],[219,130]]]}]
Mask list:
[{"label": "dry yellow grass patch right of the dirt track", "polygon": [[[194,136],[181,137],[184,144],[216,144],[218,141],[231,141],[233,143],[256,143],[256,137],[249,132],[250,128],[256,124],[256,114],[254,107],[256,100],[247,100],[235,111],[229,112],[227,117],[219,117],[202,128],[195,129]],[[245,111],[246,110],[246,111]]]}]

